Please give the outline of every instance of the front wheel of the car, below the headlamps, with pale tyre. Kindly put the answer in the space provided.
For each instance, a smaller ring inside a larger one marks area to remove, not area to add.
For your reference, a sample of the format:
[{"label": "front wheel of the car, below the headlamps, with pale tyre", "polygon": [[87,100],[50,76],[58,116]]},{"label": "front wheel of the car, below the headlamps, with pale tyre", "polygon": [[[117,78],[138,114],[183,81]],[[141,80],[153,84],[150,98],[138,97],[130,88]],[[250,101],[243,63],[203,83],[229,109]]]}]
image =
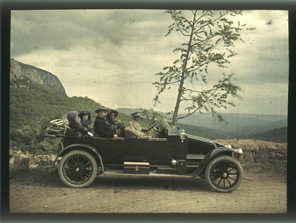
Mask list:
[{"label": "front wheel of the car, below the headlamps, with pale tyre", "polygon": [[242,165],[231,156],[218,156],[205,169],[207,183],[218,192],[234,191],[242,183]]}]

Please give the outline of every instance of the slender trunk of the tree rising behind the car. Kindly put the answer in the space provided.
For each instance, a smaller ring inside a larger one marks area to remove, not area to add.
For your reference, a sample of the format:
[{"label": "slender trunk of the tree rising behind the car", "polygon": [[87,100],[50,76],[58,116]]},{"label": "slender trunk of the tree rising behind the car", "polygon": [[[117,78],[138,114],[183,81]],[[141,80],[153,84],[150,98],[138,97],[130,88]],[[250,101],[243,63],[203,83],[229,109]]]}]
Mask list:
[{"label": "slender trunk of the tree rising behind the car", "polygon": [[183,91],[184,77],[185,77],[189,52],[190,52],[190,48],[191,48],[192,36],[193,36],[193,32],[194,32],[195,15],[196,15],[196,11],[195,11],[195,14],[194,14],[194,17],[193,17],[193,20],[192,20],[192,28],[191,28],[190,39],[189,39],[189,42],[188,42],[188,47],[187,47],[187,53],[186,53],[186,57],[184,59],[183,66],[182,66],[182,69],[183,69],[182,70],[182,76],[181,76],[181,81],[180,81],[180,84],[179,84],[176,106],[175,106],[175,110],[174,110],[174,113],[173,113],[173,126],[176,126],[177,123],[178,123],[177,115],[178,115],[178,111],[179,111],[181,95],[182,95],[182,91]]}]

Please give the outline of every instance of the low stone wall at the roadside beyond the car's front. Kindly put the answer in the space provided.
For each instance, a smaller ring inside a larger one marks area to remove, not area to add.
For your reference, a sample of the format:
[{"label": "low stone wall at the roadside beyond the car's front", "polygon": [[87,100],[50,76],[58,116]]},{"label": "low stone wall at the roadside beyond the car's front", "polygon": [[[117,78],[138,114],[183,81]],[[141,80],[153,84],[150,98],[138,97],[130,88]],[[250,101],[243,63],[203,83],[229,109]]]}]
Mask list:
[{"label": "low stone wall at the roadside beyond the car's front", "polygon": [[271,163],[287,168],[287,143],[266,142],[253,139],[217,139],[214,140],[232,148],[241,148],[244,156],[240,162]]}]

